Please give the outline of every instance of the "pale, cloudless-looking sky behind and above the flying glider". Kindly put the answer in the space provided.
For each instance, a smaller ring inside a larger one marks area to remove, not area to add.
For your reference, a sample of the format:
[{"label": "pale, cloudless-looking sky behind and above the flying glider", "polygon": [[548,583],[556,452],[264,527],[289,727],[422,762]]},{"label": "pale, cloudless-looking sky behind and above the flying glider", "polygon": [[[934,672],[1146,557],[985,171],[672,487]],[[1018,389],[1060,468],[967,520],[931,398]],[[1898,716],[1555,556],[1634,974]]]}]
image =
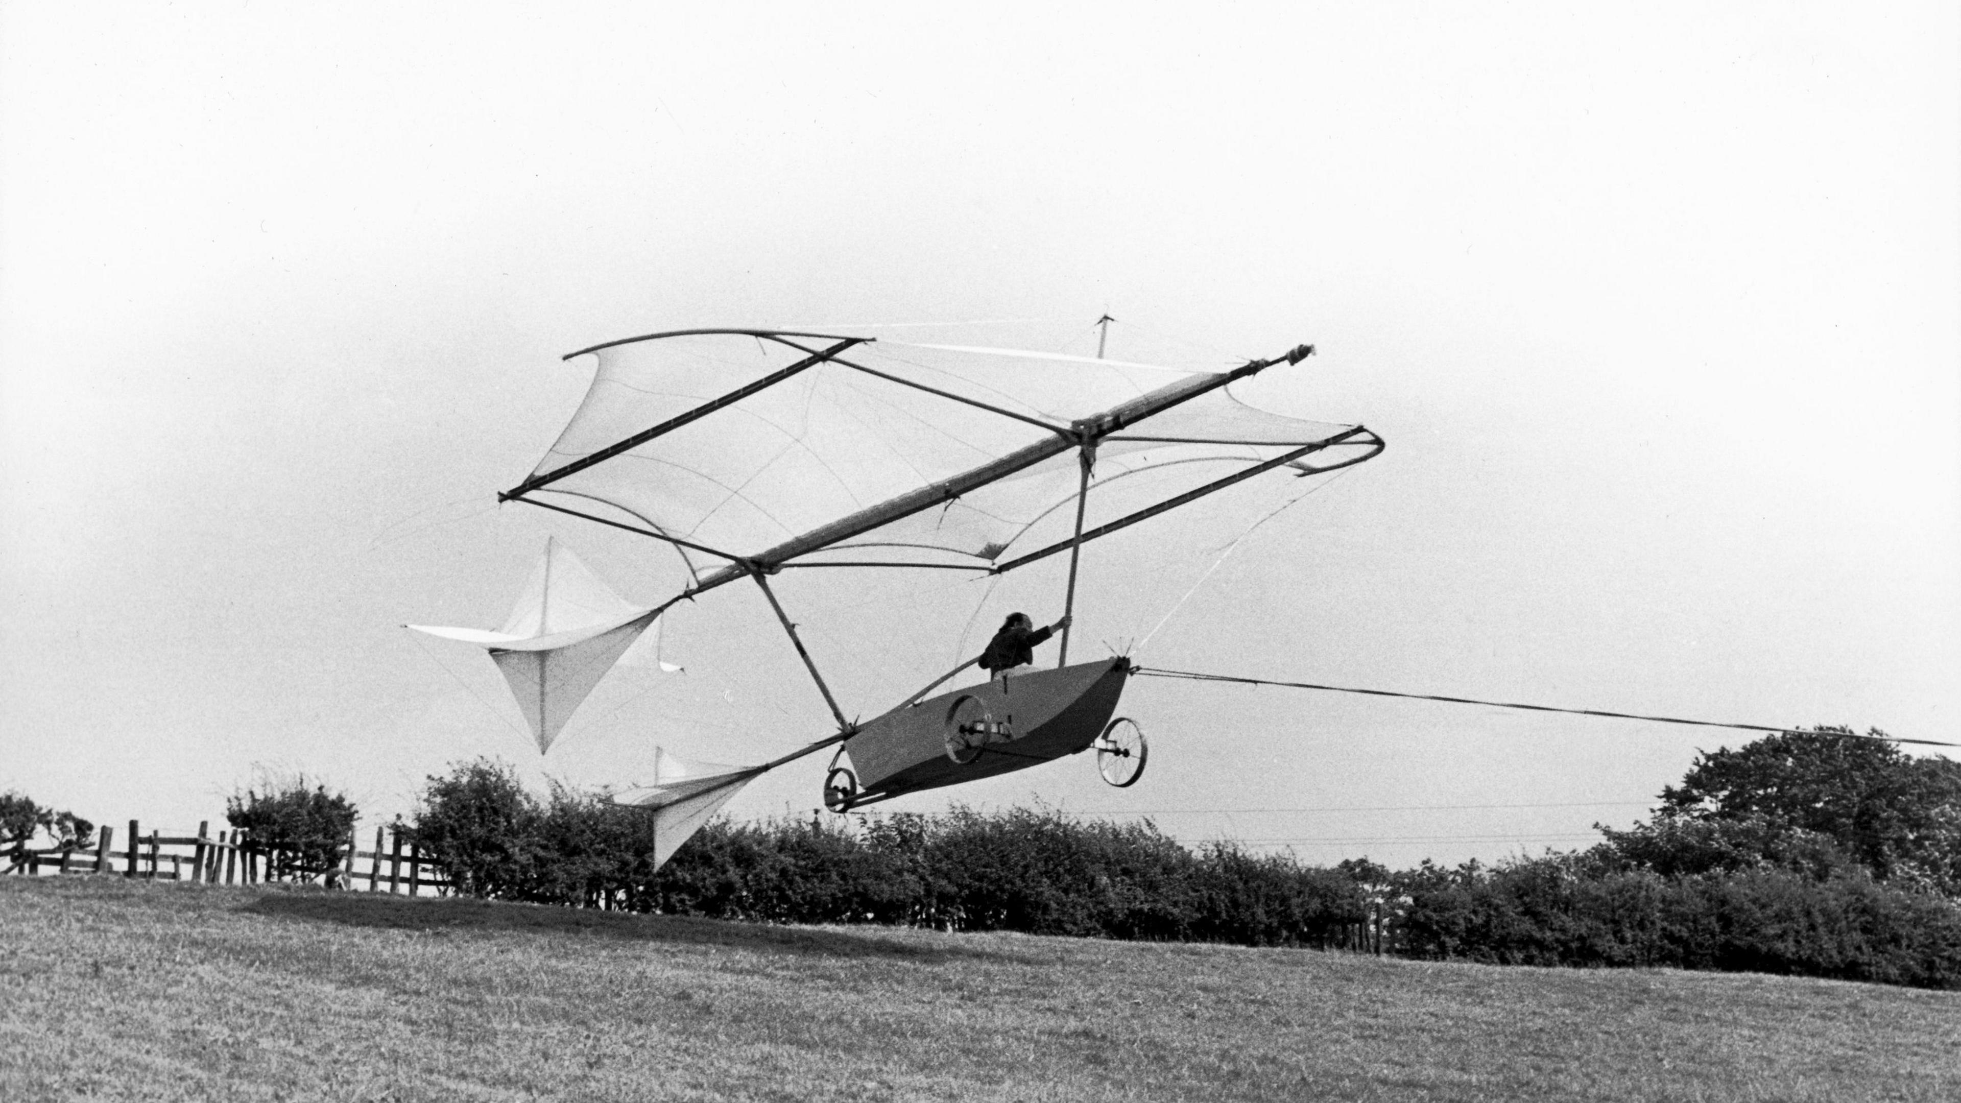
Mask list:
[{"label": "pale, cloudless-looking sky behind and above the flying glider", "polygon": [[[388,816],[475,754],[596,785],[822,736],[735,587],[673,616],[688,673],[618,671],[543,762],[480,654],[400,624],[496,626],[547,532],[675,589],[496,506],[584,391],[565,351],[1102,312],[1112,355],[1312,341],[1249,398],[1388,449],[1224,563],[1267,499],[1094,546],[1090,654],[1177,608],[1143,661],[1961,740],[1949,4],[1063,8],[0,6],[0,789],[188,828],[306,771]],[[1059,612],[1057,571],[1014,585]],[[863,714],[980,601],[851,587],[780,593]],[[1747,738],[1143,679],[1122,710],[1133,789],[1071,760],[888,807],[1488,860]]]}]

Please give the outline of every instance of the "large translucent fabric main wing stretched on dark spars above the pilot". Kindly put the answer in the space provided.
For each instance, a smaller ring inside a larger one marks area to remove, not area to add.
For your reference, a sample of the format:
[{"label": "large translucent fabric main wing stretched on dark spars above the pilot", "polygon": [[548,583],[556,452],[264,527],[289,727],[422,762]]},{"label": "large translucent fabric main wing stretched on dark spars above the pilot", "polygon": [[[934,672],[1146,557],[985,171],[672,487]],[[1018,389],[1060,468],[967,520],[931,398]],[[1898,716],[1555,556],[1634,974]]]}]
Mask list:
[{"label": "large translucent fabric main wing stretched on dark spars above the pilot", "polygon": [[1082,426],[1108,473],[1088,495],[1084,540],[1241,477],[1381,451],[1361,426],[1282,418],[1222,391],[1310,351],[1179,371],[810,334],[651,334],[573,353],[596,357],[592,387],[504,497],[665,540],[696,593],[798,559],[998,571],[1075,500]]}]

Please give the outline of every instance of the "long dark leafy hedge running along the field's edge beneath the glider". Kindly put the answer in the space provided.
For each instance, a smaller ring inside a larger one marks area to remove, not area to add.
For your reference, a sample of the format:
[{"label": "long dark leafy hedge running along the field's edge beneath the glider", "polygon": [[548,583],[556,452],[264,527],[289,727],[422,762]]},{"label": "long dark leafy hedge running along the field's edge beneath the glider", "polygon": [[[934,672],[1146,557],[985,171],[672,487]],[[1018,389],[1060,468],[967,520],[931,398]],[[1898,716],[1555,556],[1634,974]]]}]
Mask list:
[{"label": "long dark leafy hedge running along the field's edge beneath the glider", "polygon": [[1388,871],[1232,842],[1190,850],[1149,820],[957,807],[712,820],[655,871],[645,813],[561,787],[539,801],[508,767],[475,762],[429,779],[412,832],[461,891],[537,903],[1310,948],[1359,946],[1379,920],[1383,952],[1406,958],[1961,987],[1961,907],[1934,887],[1951,881],[1924,873],[1951,856],[1894,844],[1875,871],[1826,828],[1677,803],[1584,852]]}]

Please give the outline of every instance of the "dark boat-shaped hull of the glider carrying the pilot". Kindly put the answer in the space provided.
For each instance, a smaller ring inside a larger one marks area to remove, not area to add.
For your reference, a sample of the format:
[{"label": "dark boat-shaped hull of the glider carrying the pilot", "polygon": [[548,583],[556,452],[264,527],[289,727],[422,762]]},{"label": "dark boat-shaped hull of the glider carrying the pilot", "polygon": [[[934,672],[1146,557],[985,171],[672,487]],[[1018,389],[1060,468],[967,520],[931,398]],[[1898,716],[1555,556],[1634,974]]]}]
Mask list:
[{"label": "dark boat-shaped hull of the glider carrying the pilot", "polygon": [[[1130,661],[1124,657],[1012,673],[1006,681],[996,677],[869,720],[845,740],[859,783],[851,805],[979,781],[1077,754],[1110,722],[1126,677]],[[949,736],[959,758],[969,762],[949,756]]]}]

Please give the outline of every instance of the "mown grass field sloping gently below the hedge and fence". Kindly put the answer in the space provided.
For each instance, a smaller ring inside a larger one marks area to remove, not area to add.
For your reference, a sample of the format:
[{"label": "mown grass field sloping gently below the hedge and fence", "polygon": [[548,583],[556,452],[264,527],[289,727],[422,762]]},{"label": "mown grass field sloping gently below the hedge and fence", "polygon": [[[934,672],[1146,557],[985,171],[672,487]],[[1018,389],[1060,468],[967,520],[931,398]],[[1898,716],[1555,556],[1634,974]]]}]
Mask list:
[{"label": "mown grass field sloping gently below the hedge and fence", "polygon": [[0,1099],[1961,1099],[1961,993],[0,879]]}]

